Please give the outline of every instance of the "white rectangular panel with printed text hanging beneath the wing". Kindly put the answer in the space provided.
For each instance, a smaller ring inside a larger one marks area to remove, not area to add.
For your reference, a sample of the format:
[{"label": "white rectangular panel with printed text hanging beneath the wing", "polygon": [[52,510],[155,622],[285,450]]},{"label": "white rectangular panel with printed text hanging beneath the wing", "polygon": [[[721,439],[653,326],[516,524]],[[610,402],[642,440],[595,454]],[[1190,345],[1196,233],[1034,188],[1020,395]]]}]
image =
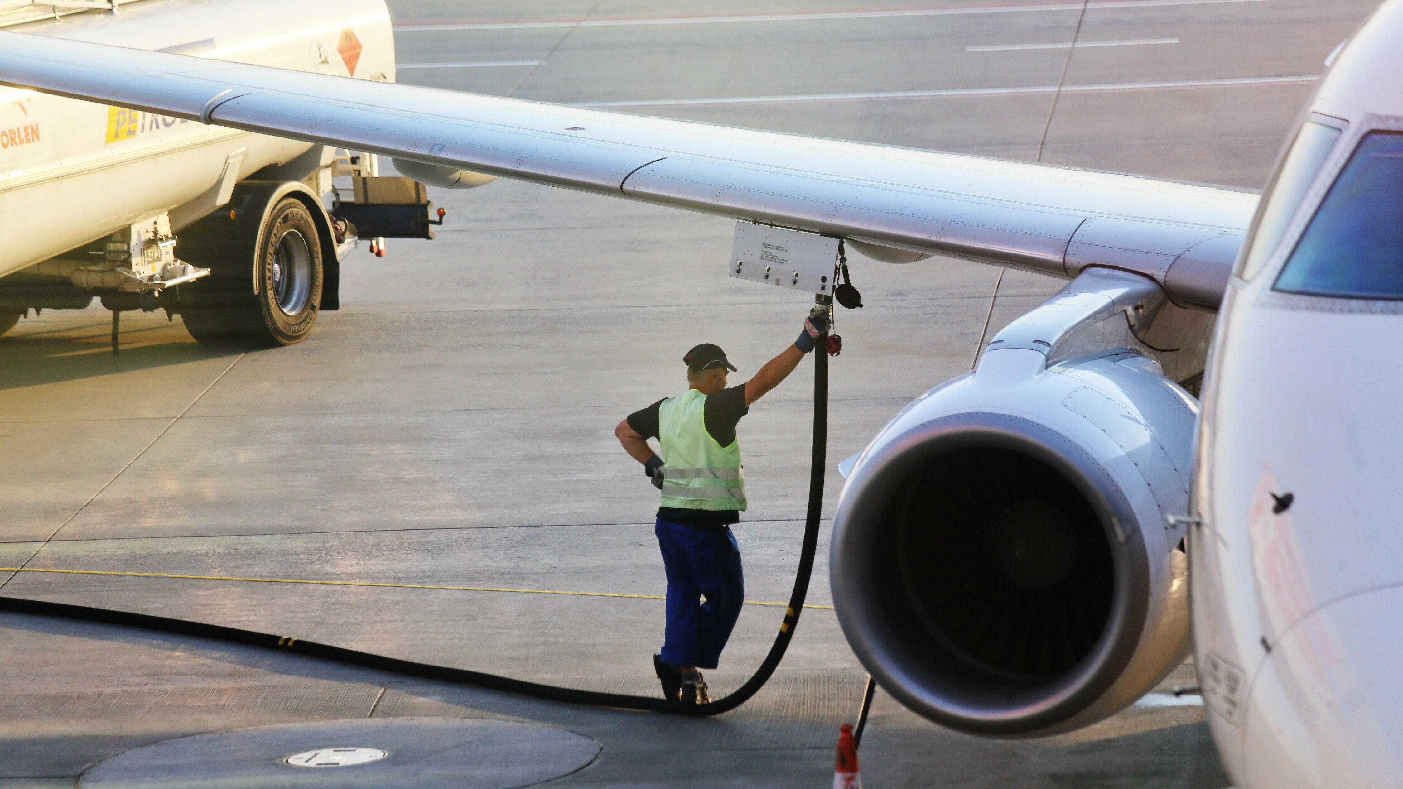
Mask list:
[{"label": "white rectangular panel with printed text hanging beneath the wing", "polygon": [[836,274],[838,239],[735,223],[731,277],[826,296],[833,292]]}]

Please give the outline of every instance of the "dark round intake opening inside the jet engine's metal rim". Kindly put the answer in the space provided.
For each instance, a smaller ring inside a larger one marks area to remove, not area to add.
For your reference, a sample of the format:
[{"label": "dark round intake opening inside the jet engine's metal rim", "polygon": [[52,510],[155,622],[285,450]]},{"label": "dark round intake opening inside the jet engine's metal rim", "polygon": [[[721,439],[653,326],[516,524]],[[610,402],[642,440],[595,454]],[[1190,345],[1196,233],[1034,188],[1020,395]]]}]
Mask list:
[{"label": "dark round intake opening inside the jet engine's metal rim", "polygon": [[[1020,480],[1009,496],[991,484],[1006,475]],[[1115,602],[1115,559],[1070,480],[985,445],[932,458],[904,487],[875,546],[875,564],[897,569],[877,592],[904,614],[895,632],[996,685],[1054,681],[1092,653]]]}]

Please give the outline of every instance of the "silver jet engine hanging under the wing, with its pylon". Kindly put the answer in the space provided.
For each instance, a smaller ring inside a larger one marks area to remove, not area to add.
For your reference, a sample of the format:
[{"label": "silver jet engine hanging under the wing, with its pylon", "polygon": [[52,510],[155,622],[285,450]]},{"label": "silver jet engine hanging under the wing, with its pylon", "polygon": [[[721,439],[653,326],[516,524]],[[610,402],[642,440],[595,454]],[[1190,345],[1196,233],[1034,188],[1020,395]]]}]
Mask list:
[{"label": "silver jet engine hanging under the wing, with its pylon", "polygon": [[1087,331],[1104,343],[1118,327],[1134,345],[1135,316],[1159,306],[1146,282],[1038,307],[976,372],[899,413],[849,475],[831,555],[839,622],[882,688],[930,720],[996,737],[1079,729],[1188,654],[1184,535],[1166,515],[1187,511],[1197,400],[1135,350],[1068,355]]}]

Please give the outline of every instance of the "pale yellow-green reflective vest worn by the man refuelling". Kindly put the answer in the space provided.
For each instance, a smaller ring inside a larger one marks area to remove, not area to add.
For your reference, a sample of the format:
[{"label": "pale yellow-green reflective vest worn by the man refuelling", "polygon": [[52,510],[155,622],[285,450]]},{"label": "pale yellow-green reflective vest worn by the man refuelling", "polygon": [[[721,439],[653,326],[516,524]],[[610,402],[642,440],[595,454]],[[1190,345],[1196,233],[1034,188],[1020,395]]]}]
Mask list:
[{"label": "pale yellow-green reflective vest worn by the man refuelling", "polygon": [[741,439],[717,444],[706,431],[706,394],[687,389],[658,406],[662,505],[682,510],[745,510]]}]

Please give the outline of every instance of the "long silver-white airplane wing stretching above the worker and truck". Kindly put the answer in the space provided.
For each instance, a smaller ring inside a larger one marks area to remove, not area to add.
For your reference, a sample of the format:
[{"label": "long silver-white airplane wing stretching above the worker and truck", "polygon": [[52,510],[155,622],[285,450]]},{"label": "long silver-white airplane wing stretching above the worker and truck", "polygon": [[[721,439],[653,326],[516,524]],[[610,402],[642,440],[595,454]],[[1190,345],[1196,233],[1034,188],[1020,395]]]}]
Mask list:
[{"label": "long silver-white airplane wing stretching above the worker and truck", "polygon": [[1229,188],[15,32],[0,32],[0,84],[1055,277],[1108,265],[1204,309],[1257,205]]}]

